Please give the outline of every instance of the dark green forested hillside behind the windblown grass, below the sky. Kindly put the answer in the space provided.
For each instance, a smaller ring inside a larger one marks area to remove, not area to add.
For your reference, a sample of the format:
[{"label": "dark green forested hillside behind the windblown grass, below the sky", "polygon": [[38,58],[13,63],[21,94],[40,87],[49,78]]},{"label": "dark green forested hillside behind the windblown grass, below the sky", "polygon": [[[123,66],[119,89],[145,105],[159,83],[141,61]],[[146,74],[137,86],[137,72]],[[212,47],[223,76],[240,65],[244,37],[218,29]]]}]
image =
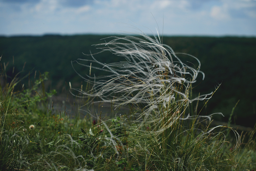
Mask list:
[{"label": "dark green forested hillside behind the windblown grass, below the sky", "polygon": [[[58,94],[68,92],[68,82],[72,88],[83,84],[83,79],[75,73],[71,61],[78,58],[91,59],[90,55],[99,52],[93,44],[104,43],[103,38],[109,35],[44,35],[0,37],[1,72],[5,72],[10,80],[19,71],[19,77],[28,86],[29,77],[49,71],[47,89],[56,89]],[[195,93],[210,93],[221,83],[221,86],[207,103],[205,114],[222,112],[227,121],[232,108],[233,123],[253,127],[256,121],[256,38],[245,37],[182,37],[165,36],[163,43],[173,48],[176,53],[187,53],[201,61],[201,71],[205,79],[197,79]],[[84,54],[83,54],[84,53]],[[177,54],[186,60],[182,54]],[[111,53],[99,53],[94,57],[102,63],[121,61],[120,57]],[[90,65],[89,62],[85,63]],[[89,69],[74,63],[75,70],[81,75],[89,74]],[[104,75],[99,70],[92,74]],[[8,81],[8,80],[7,80]],[[201,82],[202,81],[202,82]]]}]

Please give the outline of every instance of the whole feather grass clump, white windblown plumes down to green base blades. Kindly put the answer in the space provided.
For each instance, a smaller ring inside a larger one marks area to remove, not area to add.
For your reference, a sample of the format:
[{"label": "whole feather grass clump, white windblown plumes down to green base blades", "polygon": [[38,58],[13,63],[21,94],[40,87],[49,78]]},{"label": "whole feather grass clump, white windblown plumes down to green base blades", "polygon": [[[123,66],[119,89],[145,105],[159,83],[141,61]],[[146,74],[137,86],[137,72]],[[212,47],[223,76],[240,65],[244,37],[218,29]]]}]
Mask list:
[{"label": "whole feather grass clump, white windblown plumes down to green base blades", "polygon": [[[205,105],[214,94],[193,98],[193,83],[199,74],[204,79],[200,61],[185,54],[197,64],[183,62],[178,53],[162,44],[159,34],[153,38],[143,32],[136,34],[111,36],[104,39],[105,43],[96,45],[101,52],[110,51],[119,56],[122,62],[102,63],[94,58],[95,54],[90,54],[91,60],[74,61],[110,73],[99,77],[87,75],[86,78],[78,73],[91,85],[87,91],[75,89],[81,97],[89,98],[91,104],[105,102],[115,109],[130,108],[129,113],[117,114],[119,120],[122,118],[120,127],[127,131],[123,135],[115,136],[112,131],[116,129],[109,129],[111,125],[104,121],[100,124],[109,132],[117,163],[131,170],[229,170],[234,163],[222,158],[225,156],[222,149],[225,135],[215,131],[226,126],[211,128],[210,124],[202,124],[202,119],[211,123],[213,114],[199,115],[200,112],[195,112],[197,108],[191,107],[199,101],[204,101]],[[234,129],[232,131],[237,141],[236,149],[240,136]]]}]

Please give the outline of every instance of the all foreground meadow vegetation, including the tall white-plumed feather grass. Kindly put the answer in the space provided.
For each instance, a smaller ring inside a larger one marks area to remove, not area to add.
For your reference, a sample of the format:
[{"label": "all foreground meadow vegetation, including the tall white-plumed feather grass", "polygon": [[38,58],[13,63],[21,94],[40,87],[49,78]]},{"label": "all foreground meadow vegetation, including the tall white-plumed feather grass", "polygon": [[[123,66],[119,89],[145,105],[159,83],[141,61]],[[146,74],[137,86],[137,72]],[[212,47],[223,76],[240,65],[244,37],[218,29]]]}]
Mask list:
[{"label": "all foreground meadow vegetation, including the tall white-plumed feather grass", "polygon": [[[77,72],[85,81],[80,88],[69,83],[68,96],[79,101],[71,113],[66,99],[56,108],[56,91],[45,91],[48,73],[27,74],[24,85],[20,73],[8,81],[5,66],[1,69],[1,170],[256,168],[255,127],[250,132],[230,127],[235,106],[226,125],[212,126],[212,116],[222,113],[204,108],[221,86],[207,94],[193,92],[204,79],[196,57],[174,53],[159,36],[112,36],[105,42],[96,47],[123,62],[103,63],[97,54],[72,62],[89,74]],[[93,69],[109,74],[97,76]]]}]

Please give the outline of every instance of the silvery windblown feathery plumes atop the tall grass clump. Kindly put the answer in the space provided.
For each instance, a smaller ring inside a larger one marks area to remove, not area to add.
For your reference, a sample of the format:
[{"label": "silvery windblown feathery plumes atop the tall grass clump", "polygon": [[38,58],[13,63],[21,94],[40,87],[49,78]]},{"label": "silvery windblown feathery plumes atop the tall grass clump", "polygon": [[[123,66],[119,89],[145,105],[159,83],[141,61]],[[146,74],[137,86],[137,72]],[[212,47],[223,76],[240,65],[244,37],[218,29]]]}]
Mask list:
[{"label": "silvery windblown feathery plumes atop the tall grass clump", "polygon": [[[87,92],[77,90],[83,96],[92,97],[91,101],[94,102],[98,97],[101,102],[114,102],[116,107],[136,104],[143,110],[140,116],[144,117],[160,111],[177,115],[182,106],[188,106],[189,103],[197,100],[208,100],[211,97],[212,93],[197,98],[189,96],[191,85],[196,82],[198,74],[201,73],[204,79],[197,58],[188,55],[198,62],[197,68],[191,67],[182,62],[171,47],[162,44],[159,36],[159,39],[156,36],[153,39],[145,34],[139,36],[143,37],[113,36],[108,43],[97,45],[101,46],[99,49],[102,51],[110,51],[125,58],[127,60],[125,62],[105,64],[97,61],[93,55],[91,55],[93,60],[79,59],[101,65],[102,68],[84,66],[108,71],[110,75],[83,77],[85,81],[93,84],[93,88]],[[179,117],[177,115],[174,118]]]}]

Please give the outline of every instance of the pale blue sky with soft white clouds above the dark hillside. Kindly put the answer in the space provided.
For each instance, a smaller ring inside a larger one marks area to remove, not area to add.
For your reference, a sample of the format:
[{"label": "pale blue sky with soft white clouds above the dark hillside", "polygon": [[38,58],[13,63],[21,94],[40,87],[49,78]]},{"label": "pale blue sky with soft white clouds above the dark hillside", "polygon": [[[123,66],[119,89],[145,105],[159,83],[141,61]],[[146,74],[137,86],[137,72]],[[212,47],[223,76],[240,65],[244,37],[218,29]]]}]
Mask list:
[{"label": "pale blue sky with soft white clouds above the dark hillside", "polygon": [[0,0],[0,24],[7,36],[156,34],[158,26],[164,35],[256,36],[256,0]]}]

